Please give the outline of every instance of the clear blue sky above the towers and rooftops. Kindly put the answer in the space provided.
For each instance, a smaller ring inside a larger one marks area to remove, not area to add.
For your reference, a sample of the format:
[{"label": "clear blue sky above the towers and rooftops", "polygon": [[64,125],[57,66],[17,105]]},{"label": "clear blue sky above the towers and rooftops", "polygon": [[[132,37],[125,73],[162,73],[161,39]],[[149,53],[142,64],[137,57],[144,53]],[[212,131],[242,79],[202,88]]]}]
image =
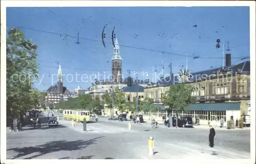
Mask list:
[{"label": "clear blue sky above the towers and rooftops", "polygon": [[[111,42],[109,37],[115,27],[121,45],[168,52],[120,46],[124,77],[128,76],[127,70],[130,69],[148,72],[152,79],[152,67],[158,65],[157,69],[161,71],[162,60],[164,74],[170,72],[170,62],[173,72],[178,73],[182,65],[186,65],[186,54],[222,57],[222,50],[215,47],[217,39],[221,39],[221,43],[230,42],[231,58],[250,55],[249,7],[7,8],[7,28],[27,28],[22,29],[26,38],[38,44],[41,83],[34,85],[40,90],[46,90],[55,83],[52,77],[57,74],[56,62],[60,62],[63,74],[70,74],[63,78],[63,83],[71,91],[78,85],[87,88],[92,83],[82,82],[82,74],[110,74],[113,45],[106,44],[107,48],[102,45],[101,32],[105,24],[108,24],[105,42]],[[75,37],[69,37],[76,36],[78,32],[81,37],[79,45],[75,43]],[[69,36],[65,38],[65,35]],[[241,61],[232,59],[231,63]],[[192,72],[211,66],[222,66],[222,59],[188,58],[188,68]],[[78,80],[75,80],[75,74],[80,74],[77,75]]]}]

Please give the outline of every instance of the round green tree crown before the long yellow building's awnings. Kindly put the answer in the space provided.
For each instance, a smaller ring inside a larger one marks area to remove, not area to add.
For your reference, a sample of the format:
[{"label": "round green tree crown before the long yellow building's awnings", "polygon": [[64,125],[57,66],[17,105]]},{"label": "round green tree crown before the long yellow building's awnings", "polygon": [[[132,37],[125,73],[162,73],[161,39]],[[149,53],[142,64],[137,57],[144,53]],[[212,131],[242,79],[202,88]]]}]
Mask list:
[{"label": "round green tree crown before the long yellow building's awnings", "polygon": [[190,85],[172,85],[162,94],[162,102],[172,110],[184,110],[188,104],[194,101],[194,97],[191,96],[192,90],[193,87]]}]

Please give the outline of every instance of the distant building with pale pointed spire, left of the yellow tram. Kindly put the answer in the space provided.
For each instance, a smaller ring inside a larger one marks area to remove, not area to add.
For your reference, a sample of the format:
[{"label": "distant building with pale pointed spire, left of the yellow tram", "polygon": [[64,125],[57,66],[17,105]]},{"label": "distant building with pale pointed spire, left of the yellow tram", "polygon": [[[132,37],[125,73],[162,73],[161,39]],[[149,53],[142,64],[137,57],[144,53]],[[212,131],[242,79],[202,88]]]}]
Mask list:
[{"label": "distant building with pale pointed spire, left of the yellow tram", "polygon": [[54,86],[50,86],[47,89],[47,96],[46,96],[46,104],[56,104],[60,101],[66,101],[68,98],[72,97],[73,93],[69,91],[67,87],[63,86],[63,77],[61,66],[58,67],[58,81],[57,84]]}]

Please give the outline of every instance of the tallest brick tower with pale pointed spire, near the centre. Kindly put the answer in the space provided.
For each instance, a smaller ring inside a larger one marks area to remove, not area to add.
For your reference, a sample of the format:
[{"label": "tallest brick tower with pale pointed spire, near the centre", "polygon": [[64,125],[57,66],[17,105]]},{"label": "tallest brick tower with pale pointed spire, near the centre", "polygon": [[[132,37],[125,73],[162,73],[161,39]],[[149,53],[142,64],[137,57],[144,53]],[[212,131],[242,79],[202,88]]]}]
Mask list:
[{"label": "tallest brick tower with pale pointed spire, near the centre", "polygon": [[115,83],[122,82],[122,58],[119,54],[119,44],[117,38],[115,40],[114,55],[112,57],[112,80]]}]

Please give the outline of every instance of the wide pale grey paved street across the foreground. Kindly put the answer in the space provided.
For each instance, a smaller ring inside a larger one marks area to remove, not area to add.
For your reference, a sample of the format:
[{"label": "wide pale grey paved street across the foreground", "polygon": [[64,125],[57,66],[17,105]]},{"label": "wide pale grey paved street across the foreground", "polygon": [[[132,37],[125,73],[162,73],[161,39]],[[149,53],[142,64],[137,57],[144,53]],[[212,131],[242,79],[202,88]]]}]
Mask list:
[{"label": "wide pale grey paved street across the foreground", "polygon": [[[216,130],[215,147],[208,146],[208,129],[152,129],[147,123],[109,121],[87,124],[60,120],[59,127],[7,132],[8,159],[120,159],[120,158],[250,158],[250,130]],[[147,155],[147,138],[154,137],[154,156]]]}]

